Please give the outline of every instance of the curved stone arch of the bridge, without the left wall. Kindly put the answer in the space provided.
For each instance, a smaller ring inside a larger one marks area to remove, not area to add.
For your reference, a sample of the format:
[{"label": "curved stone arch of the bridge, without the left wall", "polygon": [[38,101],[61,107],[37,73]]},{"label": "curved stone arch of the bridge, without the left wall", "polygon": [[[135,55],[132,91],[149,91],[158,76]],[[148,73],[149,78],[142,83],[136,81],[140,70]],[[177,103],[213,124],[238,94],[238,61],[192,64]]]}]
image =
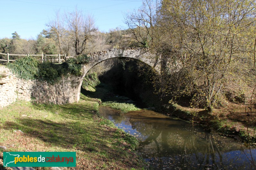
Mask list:
[{"label": "curved stone arch of the bridge, without the left wall", "polygon": [[85,64],[82,67],[82,75],[80,78],[80,83],[77,86],[77,102],[80,99],[80,92],[81,92],[81,86],[83,83],[83,79],[85,74],[95,65],[98,63],[101,63],[105,60],[111,59],[111,58],[131,58],[138,61],[141,61],[154,69],[156,71],[159,70],[160,64],[156,57],[152,57],[153,55],[149,52],[148,48],[125,48],[125,49],[109,49],[107,51],[101,51],[97,53],[90,53],[88,54],[90,57],[89,62]]}]

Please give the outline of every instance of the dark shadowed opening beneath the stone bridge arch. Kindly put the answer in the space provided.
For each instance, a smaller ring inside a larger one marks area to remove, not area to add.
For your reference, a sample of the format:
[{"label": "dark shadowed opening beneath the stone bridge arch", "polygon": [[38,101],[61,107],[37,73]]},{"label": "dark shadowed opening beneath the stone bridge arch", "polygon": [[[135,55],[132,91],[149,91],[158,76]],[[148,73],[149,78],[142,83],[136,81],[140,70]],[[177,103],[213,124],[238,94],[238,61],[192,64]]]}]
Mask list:
[{"label": "dark shadowed opening beneath the stone bridge arch", "polygon": [[[109,62],[111,60],[114,61],[114,63],[112,63],[112,68],[105,70],[104,73],[97,73],[99,76],[99,84],[95,82],[89,82],[89,84],[84,83],[85,85],[83,84],[84,79],[87,81],[88,79],[89,81],[95,79],[95,77],[93,78],[93,70],[95,71],[94,67],[97,67],[99,63],[103,63],[100,67],[104,67],[104,63],[111,64],[111,62]],[[81,91],[79,91],[79,93],[85,93],[85,95],[92,98],[101,98],[103,101],[109,100],[106,98],[113,98],[116,95],[127,96],[136,100],[136,103],[141,106],[145,106],[145,104],[141,102],[145,101],[145,99],[156,99],[156,96],[153,97],[155,95],[155,89],[150,78],[158,73],[147,63],[129,57],[113,57],[112,59],[106,59],[99,63],[86,71],[81,80]],[[93,83],[94,86],[92,85]],[[88,85],[88,87],[84,87],[86,85]],[[105,94],[99,95],[99,92]]]}]

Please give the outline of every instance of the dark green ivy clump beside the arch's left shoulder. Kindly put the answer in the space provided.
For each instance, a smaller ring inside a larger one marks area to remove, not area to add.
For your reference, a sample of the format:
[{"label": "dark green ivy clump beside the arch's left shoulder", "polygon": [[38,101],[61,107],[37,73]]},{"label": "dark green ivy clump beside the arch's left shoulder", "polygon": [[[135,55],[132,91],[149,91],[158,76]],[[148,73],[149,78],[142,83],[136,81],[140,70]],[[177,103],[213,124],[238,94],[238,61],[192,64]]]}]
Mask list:
[{"label": "dark green ivy clump beside the arch's left shoulder", "polygon": [[82,75],[82,65],[89,62],[89,57],[87,55],[78,55],[76,58],[67,59],[68,70],[71,74],[76,76]]}]

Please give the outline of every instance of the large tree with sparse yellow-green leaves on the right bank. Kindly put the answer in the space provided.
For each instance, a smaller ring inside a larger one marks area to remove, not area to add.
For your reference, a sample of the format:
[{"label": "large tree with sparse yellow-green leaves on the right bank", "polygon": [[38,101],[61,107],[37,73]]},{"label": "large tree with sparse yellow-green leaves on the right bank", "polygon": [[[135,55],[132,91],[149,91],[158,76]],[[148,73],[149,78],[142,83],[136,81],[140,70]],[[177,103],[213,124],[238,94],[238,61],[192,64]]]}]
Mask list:
[{"label": "large tree with sparse yellow-green leaves on the right bank", "polygon": [[255,24],[255,2],[163,0],[160,15],[158,24],[164,36],[157,50],[174,65],[181,62],[180,72],[170,76],[176,92],[173,88],[169,92],[176,97],[192,95],[192,105],[211,110],[230,63],[246,55],[246,37]]}]

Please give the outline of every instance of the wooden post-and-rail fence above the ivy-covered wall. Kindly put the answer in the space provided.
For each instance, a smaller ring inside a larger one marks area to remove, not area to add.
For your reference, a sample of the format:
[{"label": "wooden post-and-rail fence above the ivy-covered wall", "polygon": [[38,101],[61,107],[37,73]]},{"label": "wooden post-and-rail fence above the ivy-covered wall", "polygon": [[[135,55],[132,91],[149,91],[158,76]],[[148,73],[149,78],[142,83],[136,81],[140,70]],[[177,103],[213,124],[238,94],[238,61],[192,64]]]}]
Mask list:
[{"label": "wooden post-and-rail fence above the ivy-covered wall", "polygon": [[[15,60],[10,60],[10,56],[41,56],[42,59],[38,59],[39,61],[42,61],[42,63],[48,61],[52,61],[52,63],[54,61],[59,62],[59,64],[61,63],[60,61],[66,60],[66,58],[70,58],[72,56],[66,56],[66,54],[57,54],[57,55],[47,55],[47,54],[4,54],[4,53],[0,53],[0,55],[7,55],[7,60],[4,59],[0,59],[0,61],[4,61],[9,63],[10,61],[15,61]],[[50,56],[51,58],[46,59],[46,56]],[[57,58],[53,58],[54,56],[58,56]],[[64,59],[60,59],[60,56],[65,56]]]}]

